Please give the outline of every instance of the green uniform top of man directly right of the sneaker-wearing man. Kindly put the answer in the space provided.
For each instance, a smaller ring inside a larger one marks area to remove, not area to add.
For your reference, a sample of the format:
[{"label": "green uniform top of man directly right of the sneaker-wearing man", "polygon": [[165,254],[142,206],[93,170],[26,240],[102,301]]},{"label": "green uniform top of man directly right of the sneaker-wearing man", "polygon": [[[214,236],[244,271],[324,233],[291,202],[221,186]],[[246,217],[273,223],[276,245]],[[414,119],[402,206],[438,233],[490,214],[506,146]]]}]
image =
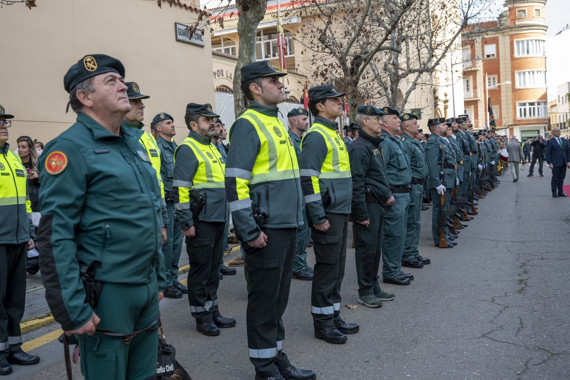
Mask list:
[{"label": "green uniform top of man directly right of the sneaker-wearing man", "polygon": [[386,163],[386,176],[390,186],[406,186],[412,182],[412,171],[410,171],[410,161],[404,152],[404,147],[400,139],[393,138],[390,134],[382,131],[380,134],[382,142],[382,154]]}]

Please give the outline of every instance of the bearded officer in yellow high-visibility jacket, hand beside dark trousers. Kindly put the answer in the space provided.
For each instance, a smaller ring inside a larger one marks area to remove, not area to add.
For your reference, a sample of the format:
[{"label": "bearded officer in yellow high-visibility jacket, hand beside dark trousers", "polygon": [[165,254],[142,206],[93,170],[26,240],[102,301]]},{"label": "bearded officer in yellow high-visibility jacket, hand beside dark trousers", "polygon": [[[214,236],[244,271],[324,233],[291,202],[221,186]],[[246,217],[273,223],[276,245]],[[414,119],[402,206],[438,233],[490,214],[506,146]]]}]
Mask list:
[{"label": "bearded officer in yellow high-visibility jacket, hand beside dark trousers", "polygon": [[[227,239],[228,207],[224,186],[226,161],[211,142],[215,118],[210,104],[188,103],[184,121],[188,137],[174,152],[174,209],[186,236],[188,302],[196,330],[219,335],[219,328],[235,326],[218,309],[219,261]],[[205,203],[201,205],[201,200]],[[201,208],[198,208],[201,207]]]}]

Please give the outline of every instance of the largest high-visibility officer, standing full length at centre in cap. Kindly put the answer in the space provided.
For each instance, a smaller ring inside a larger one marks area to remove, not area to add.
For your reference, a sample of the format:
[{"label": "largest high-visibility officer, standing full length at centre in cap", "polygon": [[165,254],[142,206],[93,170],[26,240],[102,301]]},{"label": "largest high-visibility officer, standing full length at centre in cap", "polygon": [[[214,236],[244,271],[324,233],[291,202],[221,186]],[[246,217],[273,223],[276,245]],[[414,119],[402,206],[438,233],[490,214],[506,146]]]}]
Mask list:
[{"label": "largest high-visibility officer, standing full length at centre in cap", "polygon": [[296,369],[283,352],[297,231],[303,197],[295,147],[278,118],[285,101],[284,72],[267,61],[241,68],[247,110],[230,128],[226,194],[245,251],[247,345],[255,379],[315,379]]}]

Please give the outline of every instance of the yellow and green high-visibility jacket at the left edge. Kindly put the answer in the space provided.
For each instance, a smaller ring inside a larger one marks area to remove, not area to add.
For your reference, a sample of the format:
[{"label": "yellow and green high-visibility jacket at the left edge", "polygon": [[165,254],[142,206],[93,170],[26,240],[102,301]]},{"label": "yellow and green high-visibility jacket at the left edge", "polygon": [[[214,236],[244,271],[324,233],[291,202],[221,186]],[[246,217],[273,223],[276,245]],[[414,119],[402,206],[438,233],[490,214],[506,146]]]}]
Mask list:
[{"label": "yellow and green high-visibility jacket at the left edge", "polygon": [[27,186],[20,156],[4,144],[0,147],[0,244],[22,244],[36,237]]}]

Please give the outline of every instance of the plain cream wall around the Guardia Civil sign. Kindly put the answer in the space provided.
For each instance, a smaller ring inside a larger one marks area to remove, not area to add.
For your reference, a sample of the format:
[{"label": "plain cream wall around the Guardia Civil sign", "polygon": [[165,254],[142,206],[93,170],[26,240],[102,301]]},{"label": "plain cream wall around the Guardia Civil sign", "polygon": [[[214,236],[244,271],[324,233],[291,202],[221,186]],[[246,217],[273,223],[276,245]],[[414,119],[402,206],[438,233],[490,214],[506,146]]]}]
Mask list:
[{"label": "plain cream wall around the Guardia Civil sign", "polygon": [[189,102],[214,104],[210,33],[205,46],[177,42],[174,22],[190,23],[197,12],[143,0],[58,0],[28,10],[17,4],[0,11],[3,59],[0,104],[15,115],[9,143],[28,135],[47,143],[75,120],[66,114],[67,69],[86,54],[123,62],[125,80],[139,83],[145,100],[145,130],[158,112],[174,117],[180,142]]}]

